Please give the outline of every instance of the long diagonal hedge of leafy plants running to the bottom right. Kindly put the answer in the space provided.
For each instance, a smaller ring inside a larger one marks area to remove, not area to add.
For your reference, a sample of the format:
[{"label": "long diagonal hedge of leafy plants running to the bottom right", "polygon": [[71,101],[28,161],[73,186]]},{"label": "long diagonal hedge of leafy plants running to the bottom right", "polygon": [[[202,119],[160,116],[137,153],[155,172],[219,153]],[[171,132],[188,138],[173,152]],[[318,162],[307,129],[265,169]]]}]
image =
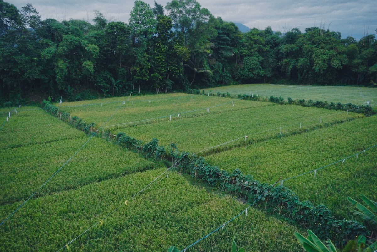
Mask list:
[{"label": "long diagonal hedge of leafy plants running to the bottom right", "polygon": [[[87,134],[90,133],[93,124],[86,124],[77,117],[70,118],[69,114],[44,101],[42,107],[57,118],[63,119],[75,128]],[[68,120],[68,118],[70,118]],[[143,144],[141,140],[129,137],[119,132],[114,138],[117,144],[123,148],[135,151],[146,158],[157,161],[170,160],[175,169],[184,171],[193,178],[208,183],[213,189],[221,189],[230,194],[244,198],[252,203],[265,207],[278,209],[279,214],[288,215],[288,218],[296,223],[313,230],[320,238],[331,239],[338,244],[344,244],[354,239],[357,235],[368,235],[366,227],[355,220],[337,220],[331,215],[330,210],[324,205],[314,206],[310,201],[300,201],[299,197],[284,186],[274,186],[261,183],[253,179],[252,175],[244,175],[239,169],[227,172],[218,166],[211,166],[203,157],[189,152],[180,152],[175,144],[170,144],[169,151],[164,146],[158,145],[158,139],[153,138],[149,143]]]}]

